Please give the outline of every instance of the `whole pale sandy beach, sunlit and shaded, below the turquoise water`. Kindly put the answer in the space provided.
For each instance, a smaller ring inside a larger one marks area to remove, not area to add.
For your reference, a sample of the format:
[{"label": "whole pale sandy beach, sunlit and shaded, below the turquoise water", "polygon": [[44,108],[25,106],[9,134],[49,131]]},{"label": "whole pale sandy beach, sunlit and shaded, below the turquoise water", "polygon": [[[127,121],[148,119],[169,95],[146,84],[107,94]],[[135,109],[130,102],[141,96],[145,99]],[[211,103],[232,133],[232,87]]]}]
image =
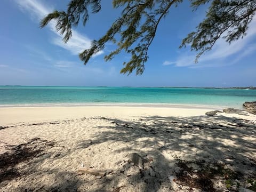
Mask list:
[{"label": "whole pale sandy beach, sunlit and shaded, below the turquoise water", "polygon": [[0,108],[0,191],[256,191],[256,116],[214,109]]}]

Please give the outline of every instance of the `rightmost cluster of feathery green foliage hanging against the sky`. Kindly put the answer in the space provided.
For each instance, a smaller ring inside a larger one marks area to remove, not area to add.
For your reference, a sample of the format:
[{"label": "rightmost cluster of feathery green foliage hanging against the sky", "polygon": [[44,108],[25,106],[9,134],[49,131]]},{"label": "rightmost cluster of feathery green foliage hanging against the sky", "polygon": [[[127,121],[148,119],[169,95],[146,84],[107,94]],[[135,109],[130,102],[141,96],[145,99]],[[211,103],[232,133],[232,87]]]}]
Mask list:
[{"label": "rightmost cluster of feathery green foliage hanging against the sky", "polygon": [[[191,5],[196,9],[208,2],[194,0],[191,1]],[[212,49],[219,38],[223,37],[229,43],[243,38],[255,11],[255,0],[214,0],[206,13],[206,18],[199,23],[196,31],[183,39],[180,47],[191,45],[191,50],[198,51],[195,60],[197,62],[205,51]]]}]

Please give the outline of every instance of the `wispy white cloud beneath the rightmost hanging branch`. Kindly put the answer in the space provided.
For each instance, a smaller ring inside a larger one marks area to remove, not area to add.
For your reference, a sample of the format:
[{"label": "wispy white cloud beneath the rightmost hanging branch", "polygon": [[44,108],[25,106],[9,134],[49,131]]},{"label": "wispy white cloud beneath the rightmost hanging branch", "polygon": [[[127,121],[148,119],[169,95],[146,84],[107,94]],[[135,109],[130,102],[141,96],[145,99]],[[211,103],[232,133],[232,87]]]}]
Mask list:
[{"label": "wispy white cloud beneath the rightmost hanging branch", "polygon": [[[177,67],[190,67],[190,68],[202,68],[202,67],[220,67],[227,65],[234,65],[246,55],[251,54],[256,50],[256,43],[252,43],[252,39],[256,35],[256,17],[250,23],[247,35],[238,39],[231,44],[228,44],[225,39],[221,38],[214,45],[210,52],[206,52],[199,58],[198,63],[194,63],[196,53],[184,50],[178,55],[177,60],[166,60],[163,65],[174,65]],[[254,41],[255,42],[255,41]],[[227,62],[226,59],[229,59]]]}]

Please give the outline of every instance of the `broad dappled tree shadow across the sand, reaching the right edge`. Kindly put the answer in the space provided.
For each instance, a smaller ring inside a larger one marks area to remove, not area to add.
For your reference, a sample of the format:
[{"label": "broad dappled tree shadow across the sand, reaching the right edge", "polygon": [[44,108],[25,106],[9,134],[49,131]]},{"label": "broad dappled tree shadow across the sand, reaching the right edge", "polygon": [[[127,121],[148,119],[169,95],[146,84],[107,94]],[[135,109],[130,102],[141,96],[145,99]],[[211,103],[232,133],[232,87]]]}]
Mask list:
[{"label": "broad dappled tree shadow across the sand, reaching the right edge", "polygon": [[[255,180],[256,126],[253,122],[224,116],[149,116],[133,121],[98,119],[108,122],[109,126],[93,127],[99,131],[91,140],[77,143],[72,152],[83,149],[90,155],[101,153],[97,152],[99,145],[111,148],[113,157],[105,162],[114,161],[115,167],[102,166],[102,170],[110,169],[106,177],[96,180],[93,175],[63,171],[61,167],[49,168],[37,177],[52,175],[49,184],[35,182],[26,186],[23,183],[15,190],[237,191],[252,187],[247,180]],[[134,153],[139,155],[138,162],[130,158]],[[54,158],[68,155],[70,152],[63,152]],[[39,164],[33,169],[39,170]]]}]

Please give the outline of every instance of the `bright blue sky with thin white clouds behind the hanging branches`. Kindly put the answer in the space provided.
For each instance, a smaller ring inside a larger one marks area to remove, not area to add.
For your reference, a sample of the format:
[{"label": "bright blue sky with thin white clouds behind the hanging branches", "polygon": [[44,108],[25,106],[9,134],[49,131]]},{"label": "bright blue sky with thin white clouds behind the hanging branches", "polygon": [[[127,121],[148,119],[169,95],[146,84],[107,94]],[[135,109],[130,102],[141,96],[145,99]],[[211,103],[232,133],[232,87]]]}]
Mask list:
[{"label": "bright blue sky with thin white clouds behind the hanging branches", "polygon": [[98,14],[90,15],[86,27],[73,30],[64,44],[51,23],[44,29],[39,21],[47,14],[66,10],[64,0],[3,0],[0,6],[0,85],[59,86],[256,86],[256,19],[247,36],[228,44],[220,39],[213,50],[194,63],[195,52],[179,49],[182,38],[195,29],[205,15],[205,7],[191,11],[188,1],[162,20],[149,50],[143,75],[119,74],[125,53],[105,62],[103,57],[115,46],[107,44],[86,66],[78,53],[103,36],[121,10],[111,1],[102,1]]}]

